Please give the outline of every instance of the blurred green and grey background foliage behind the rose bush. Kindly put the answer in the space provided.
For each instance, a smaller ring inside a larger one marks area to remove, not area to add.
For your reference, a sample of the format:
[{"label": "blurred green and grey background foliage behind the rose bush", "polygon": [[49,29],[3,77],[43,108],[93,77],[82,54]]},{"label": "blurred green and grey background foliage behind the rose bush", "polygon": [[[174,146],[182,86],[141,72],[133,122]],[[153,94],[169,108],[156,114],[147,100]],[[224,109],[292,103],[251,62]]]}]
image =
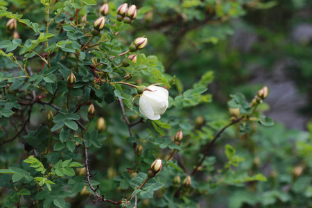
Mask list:
[{"label": "blurred green and grey background foliage behind the rose bush", "polygon": [[[98,1],[98,5],[101,3]],[[108,3],[111,10],[116,10],[123,1]],[[205,183],[192,185],[200,207],[312,207],[312,2],[146,0],[128,3],[137,5],[139,12],[132,36],[121,34],[121,41],[141,35],[148,37],[144,53],[157,55],[166,73],[176,76],[177,84],[171,89],[171,96],[190,89],[202,74],[209,83],[212,94],[209,105],[200,104],[178,112],[171,108],[166,112],[165,120],[170,120],[173,114],[181,117],[172,125],[171,135],[183,127],[185,142],[180,153],[185,155],[186,164],[198,161],[200,155],[193,155],[193,151],[200,149],[229,121],[231,115],[226,105],[229,94],[243,92],[250,101],[263,85],[269,87],[267,103],[261,109],[277,123],[270,128],[254,123],[250,132],[243,135],[239,133],[240,127],[235,126],[221,136],[204,163],[208,177],[197,175]],[[22,13],[25,19],[44,22],[39,0],[0,0],[0,6]],[[80,12],[83,15],[89,10]],[[0,37],[6,37],[6,20],[0,19]],[[22,40],[29,38],[28,30],[19,26]],[[0,67],[10,69],[15,65],[0,57]],[[119,184],[112,178],[125,170],[134,155],[123,142],[128,131],[121,122],[121,114],[105,111],[105,107],[103,112],[98,110],[98,116],[107,122],[107,141],[100,150],[90,150],[94,151],[91,167],[98,171],[101,191],[107,198],[114,198],[122,190],[117,189]],[[198,116],[204,119],[202,127],[196,124]],[[38,114],[35,123],[43,120]],[[121,128],[125,131],[120,131]],[[228,160],[224,153],[226,144],[243,159],[236,172],[229,171],[228,177],[220,181],[218,175]],[[14,164],[21,154],[24,146],[8,144],[1,149],[0,165]],[[265,175],[267,181],[231,180],[233,175],[245,180],[247,174],[257,173]],[[4,177],[0,181],[6,181]],[[162,177],[159,181],[166,184]],[[169,188],[165,185],[163,189]],[[168,197],[163,196],[163,189],[155,193],[155,199],[140,201],[139,207],[173,207]],[[1,197],[0,201],[4,200]],[[187,198],[182,201],[185,207],[198,206]],[[94,207],[92,200],[87,200],[85,207]]]}]

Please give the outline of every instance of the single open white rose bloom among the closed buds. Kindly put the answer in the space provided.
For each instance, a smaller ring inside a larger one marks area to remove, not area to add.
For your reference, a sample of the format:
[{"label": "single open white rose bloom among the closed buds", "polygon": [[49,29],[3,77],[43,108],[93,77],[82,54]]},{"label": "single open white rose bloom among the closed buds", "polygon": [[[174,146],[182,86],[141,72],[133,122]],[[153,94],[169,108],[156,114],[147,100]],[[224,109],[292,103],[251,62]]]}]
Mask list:
[{"label": "single open white rose bloom among the closed buds", "polygon": [[168,90],[154,85],[147,89],[150,91],[145,90],[140,97],[139,110],[148,119],[158,120],[168,107]]}]

